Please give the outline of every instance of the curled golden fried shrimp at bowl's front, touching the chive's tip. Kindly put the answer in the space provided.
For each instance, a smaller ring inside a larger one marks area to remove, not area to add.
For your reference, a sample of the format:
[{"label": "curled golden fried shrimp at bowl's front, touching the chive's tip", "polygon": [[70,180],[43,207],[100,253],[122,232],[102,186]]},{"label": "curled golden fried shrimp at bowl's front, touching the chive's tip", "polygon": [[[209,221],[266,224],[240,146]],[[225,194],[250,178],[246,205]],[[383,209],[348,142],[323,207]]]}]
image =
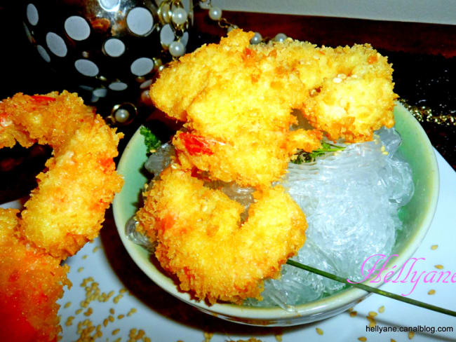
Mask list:
[{"label": "curled golden fried shrimp at bowl's front, touching the chive's tip", "polygon": [[176,164],[145,196],[138,231],[158,242],[156,258],[180,288],[210,303],[260,299],[263,280],[304,244],[306,219],[282,186],[255,191],[243,224],[243,205]]}]

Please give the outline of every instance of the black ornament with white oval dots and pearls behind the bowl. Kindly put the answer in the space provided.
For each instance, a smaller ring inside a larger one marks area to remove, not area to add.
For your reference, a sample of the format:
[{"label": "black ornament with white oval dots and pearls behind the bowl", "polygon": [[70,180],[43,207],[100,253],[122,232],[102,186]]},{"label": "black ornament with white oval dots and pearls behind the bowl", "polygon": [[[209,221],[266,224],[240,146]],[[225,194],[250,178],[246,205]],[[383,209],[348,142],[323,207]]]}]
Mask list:
[{"label": "black ornament with white oval dots and pearls behind the bowl", "polygon": [[27,0],[22,9],[43,60],[116,125],[150,101],[156,71],[185,53],[193,23],[191,0]]}]

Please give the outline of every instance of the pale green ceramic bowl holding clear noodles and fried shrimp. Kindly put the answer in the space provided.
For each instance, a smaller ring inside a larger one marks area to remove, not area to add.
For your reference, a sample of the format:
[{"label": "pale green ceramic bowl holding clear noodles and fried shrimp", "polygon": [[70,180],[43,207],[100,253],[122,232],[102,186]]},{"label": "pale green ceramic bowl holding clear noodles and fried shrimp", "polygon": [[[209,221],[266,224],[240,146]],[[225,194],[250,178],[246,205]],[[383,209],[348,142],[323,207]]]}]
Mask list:
[{"label": "pale green ceramic bowl holding clear noodles and fried shrimp", "polygon": [[[420,245],[434,217],[438,198],[438,167],[434,149],[420,123],[401,104],[396,104],[394,116],[396,130],[403,138],[400,149],[412,167],[415,183],[415,194],[410,203],[403,207],[403,233],[398,235],[393,250],[394,254],[399,255],[394,259],[394,264],[401,265]],[[143,172],[145,160],[146,147],[138,130],[130,139],[119,162],[119,172],[123,175],[125,184],[114,198],[114,219],[123,245],[135,263],[157,285],[173,296],[225,320],[268,326],[288,326],[322,320],[347,310],[366,296],[366,292],[361,289],[342,289],[324,299],[296,306],[294,312],[288,312],[279,307],[252,308],[233,304],[208,306],[203,301],[195,301],[189,294],[180,292],[175,282],[149,261],[147,250],[135,245],[125,235],[126,222],[138,210],[140,193],[147,182]]]}]

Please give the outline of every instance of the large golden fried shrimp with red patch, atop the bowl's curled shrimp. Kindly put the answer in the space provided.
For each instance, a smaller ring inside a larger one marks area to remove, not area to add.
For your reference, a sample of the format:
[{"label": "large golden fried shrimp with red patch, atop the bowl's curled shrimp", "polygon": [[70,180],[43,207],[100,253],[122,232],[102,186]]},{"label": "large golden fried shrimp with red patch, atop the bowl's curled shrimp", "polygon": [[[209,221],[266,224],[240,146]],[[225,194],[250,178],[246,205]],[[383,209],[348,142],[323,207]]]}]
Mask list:
[{"label": "large golden fried shrimp with red patch, atop the bowl's curled shrimp", "polygon": [[249,48],[253,33],[235,30],[220,44],[185,55],[151,88],[159,109],[187,121],[173,144],[183,167],[241,186],[268,186],[297,149],[320,146],[321,132],[290,131],[307,97],[293,65]]}]

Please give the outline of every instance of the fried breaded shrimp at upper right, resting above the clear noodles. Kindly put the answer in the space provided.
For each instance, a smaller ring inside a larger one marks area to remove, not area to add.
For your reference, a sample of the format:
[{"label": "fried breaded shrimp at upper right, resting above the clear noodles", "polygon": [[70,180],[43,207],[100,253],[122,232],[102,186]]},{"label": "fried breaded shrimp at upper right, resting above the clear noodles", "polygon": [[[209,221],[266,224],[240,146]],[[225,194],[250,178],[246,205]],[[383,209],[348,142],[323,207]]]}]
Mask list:
[{"label": "fried breaded shrimp at upper right, resting above the clear noodles", "polygon": [[288,39],[253,49],[276,50],[284,62],[295,64],[309,93],[300,109],[330,139],[366,142],[374,130],[394,126],[393,69],[370,45],[316,48]]}]

